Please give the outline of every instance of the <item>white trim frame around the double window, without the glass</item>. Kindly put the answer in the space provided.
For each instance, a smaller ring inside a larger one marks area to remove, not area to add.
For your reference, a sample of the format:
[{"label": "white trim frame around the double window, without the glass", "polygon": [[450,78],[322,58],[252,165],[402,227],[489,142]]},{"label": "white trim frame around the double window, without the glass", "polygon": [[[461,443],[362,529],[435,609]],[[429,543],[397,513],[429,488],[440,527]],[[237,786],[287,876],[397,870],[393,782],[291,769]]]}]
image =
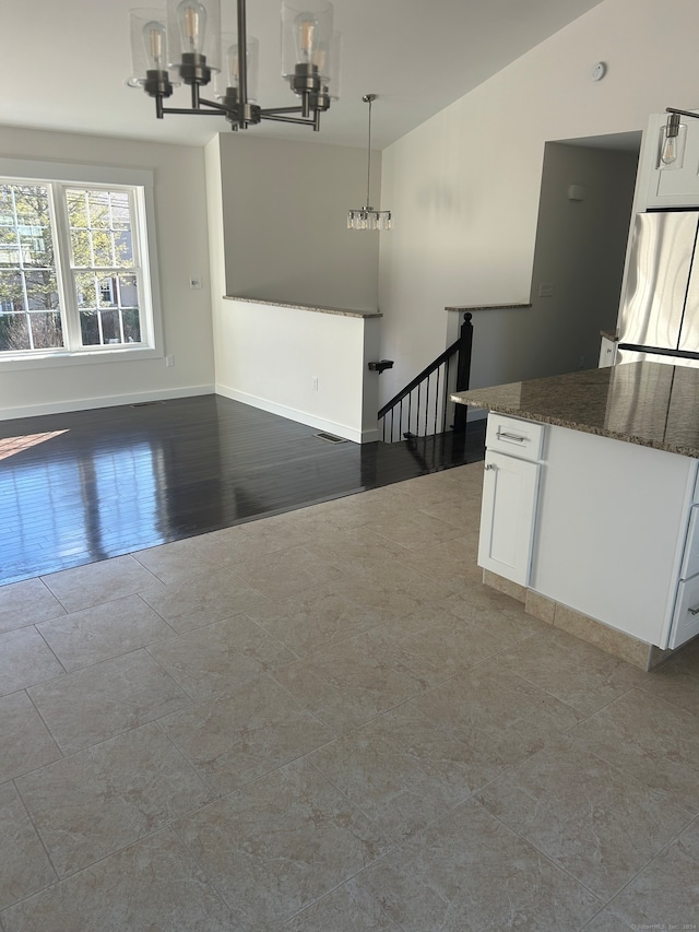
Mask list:
[{"label": "white trim frame around the double window, without the glass", "polygon": [[[159,295],[159,275],[157,249],[155,245],[155,210],[153,172],[138,168],[116,168],[96,165],[70,165],[56,162],[29,162],[17,158],[0,158],[0,178],[12,181],[26,181],[54,185],[56,197],[64,197],[66,187],[128,187],[132,189],[133,205],[132,234],[139,244],[141,255],[140,281],[142,294],[139,295],[141,311],[142,343],[107,344],[100,346],[64,346],[51,350],[23,350],[16,354],[0,353],[0,373],[17,369],[50,368],[55,366],[80,366],[91,364],[125,363],[135,359],[162,359],[163,319]],[[55,220],[55,217],[54,217]],[[69,246],[68,231],[57,228],[64,247]],[[70,274],[70,253],[66,253],[61,263],[57,263],[59,288],[66,300],[63,318],[69,328],[79,327],[74,307],[72,281],[66,281]],[[66,275],[63,274],[63,270]],[[125,272],[129,272],[125,269]]]}]

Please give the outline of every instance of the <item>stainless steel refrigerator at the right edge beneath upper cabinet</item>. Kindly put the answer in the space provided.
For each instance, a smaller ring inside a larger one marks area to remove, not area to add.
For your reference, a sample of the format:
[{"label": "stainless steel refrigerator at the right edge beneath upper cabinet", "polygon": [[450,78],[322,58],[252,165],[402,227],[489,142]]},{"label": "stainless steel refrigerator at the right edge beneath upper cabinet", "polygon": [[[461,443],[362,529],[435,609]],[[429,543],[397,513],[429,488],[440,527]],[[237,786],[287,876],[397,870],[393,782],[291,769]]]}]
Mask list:
[{"label": "stainless steel refrigerator at the right edge beneath upper cabinet", "polygon": [[617,363],[699,367],[699,211],[636,215],[617,322]]}]

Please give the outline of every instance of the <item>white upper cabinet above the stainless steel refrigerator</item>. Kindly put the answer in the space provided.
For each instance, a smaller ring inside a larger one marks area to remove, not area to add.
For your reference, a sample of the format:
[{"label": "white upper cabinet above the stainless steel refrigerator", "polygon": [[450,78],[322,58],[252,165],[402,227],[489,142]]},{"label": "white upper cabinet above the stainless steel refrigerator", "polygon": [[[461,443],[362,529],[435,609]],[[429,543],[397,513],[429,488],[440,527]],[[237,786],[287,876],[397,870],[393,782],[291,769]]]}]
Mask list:
[{"label": "white upper cabinet above the stainless steel refrigerator", "polygon": [[666,122],[667,114],[652,114],[643,134],[636,212],[699,207],[699,118],[680,118],[677,155],[667,165],[661,158]]}]

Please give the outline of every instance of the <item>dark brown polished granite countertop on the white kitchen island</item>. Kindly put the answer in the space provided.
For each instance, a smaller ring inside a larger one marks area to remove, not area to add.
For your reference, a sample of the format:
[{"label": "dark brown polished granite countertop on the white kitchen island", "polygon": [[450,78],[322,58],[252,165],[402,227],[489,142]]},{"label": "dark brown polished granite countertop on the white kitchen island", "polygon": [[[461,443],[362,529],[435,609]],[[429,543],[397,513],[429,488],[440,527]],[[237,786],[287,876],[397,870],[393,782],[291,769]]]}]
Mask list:
[{"label": "dark brown polished granite countertop on the white kitchen island", "polygon": [[459,404],[699,458],[699,369],[627,363],[460,391]]}]

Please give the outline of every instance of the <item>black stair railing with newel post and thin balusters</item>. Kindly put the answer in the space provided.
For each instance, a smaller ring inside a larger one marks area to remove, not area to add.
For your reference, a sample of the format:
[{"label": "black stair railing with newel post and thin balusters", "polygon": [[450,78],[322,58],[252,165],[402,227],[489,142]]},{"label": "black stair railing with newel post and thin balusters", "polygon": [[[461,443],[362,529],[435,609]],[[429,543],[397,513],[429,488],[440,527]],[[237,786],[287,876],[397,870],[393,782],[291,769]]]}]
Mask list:
[{"label": "black stair railing with newel post and thin balusters", "polygon": [[[465,430],[466,406],[450,405],[449,396],[452,391],[465,391],[469,388],[473,350],[471,318],[472,315],[466,311],[459,339],[379,410],[379,436],[383,441],[395,443],[403,438],[446,434],[448,429],[454,433]],[[453,423],[448,428],[447,421],[452,408]]]}]

